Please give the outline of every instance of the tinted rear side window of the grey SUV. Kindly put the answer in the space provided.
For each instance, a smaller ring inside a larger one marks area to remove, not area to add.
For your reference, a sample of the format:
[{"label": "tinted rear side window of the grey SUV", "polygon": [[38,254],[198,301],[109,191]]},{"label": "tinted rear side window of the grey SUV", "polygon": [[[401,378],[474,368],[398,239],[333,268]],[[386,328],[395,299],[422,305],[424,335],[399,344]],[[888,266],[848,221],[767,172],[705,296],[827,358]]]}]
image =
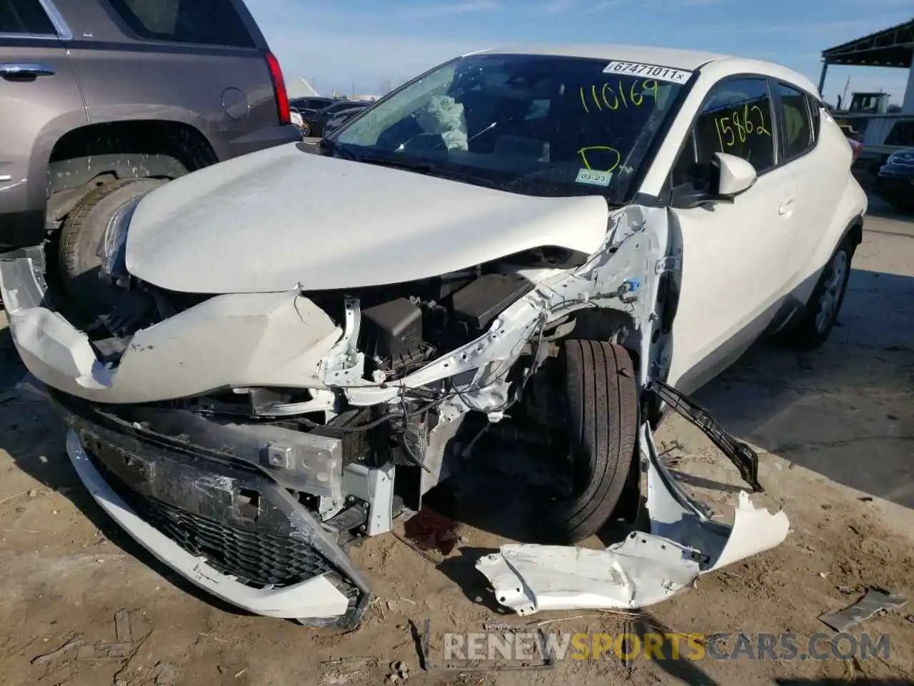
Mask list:
[{"label": "tinted rear side window of the grey SUV", "polygon": [[[0,3],[4,0],[0,0]],[[144,40],[253,48],[254,41],[228,0],[108,0]]]}]

